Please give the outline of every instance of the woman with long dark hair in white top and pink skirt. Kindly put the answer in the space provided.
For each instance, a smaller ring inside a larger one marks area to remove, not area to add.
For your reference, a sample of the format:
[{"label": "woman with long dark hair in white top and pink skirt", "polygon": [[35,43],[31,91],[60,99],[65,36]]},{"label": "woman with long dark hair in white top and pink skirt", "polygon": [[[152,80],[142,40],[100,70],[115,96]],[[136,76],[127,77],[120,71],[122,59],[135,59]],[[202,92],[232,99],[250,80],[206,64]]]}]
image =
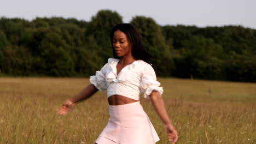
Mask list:
[{"label": "woman with long dark hair in white top and pink skirt", "polygon": [[139,95],[143,92],[145,98],[150,98],[165,124],[168,139],[172,144],[176,143],[177,131],[166,113],[161,97],[163,90],[156,81],[155,71],[138,29],[129,23],[121,23],[113,28],[110,40],[114,58],[109,58],[108,63],[90,77],[91,85],[65,101],[59,113],[66,115],[74,104],[89,98],[98,90],[107,90],[110,118],[95,143],[155,143],[159,137],[139,104]]}]

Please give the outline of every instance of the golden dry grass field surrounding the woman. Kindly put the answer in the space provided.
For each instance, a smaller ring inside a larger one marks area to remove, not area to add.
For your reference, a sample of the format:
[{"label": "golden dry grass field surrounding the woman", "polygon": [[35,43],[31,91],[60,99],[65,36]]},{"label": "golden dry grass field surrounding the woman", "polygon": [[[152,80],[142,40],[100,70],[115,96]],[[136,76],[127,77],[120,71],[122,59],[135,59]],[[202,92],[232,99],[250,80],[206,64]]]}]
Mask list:
[{"label": "golden dry grass field surrounding the woman", "polygon": [[[159,79],[181,143],[256,143],[256,83]],[[0,143],[94,143],[108,121],[105,92],[56,114],[89,84],[81,78],[0,78]],[[150,100],[141,99],[160,143],[168,143]]]}]

